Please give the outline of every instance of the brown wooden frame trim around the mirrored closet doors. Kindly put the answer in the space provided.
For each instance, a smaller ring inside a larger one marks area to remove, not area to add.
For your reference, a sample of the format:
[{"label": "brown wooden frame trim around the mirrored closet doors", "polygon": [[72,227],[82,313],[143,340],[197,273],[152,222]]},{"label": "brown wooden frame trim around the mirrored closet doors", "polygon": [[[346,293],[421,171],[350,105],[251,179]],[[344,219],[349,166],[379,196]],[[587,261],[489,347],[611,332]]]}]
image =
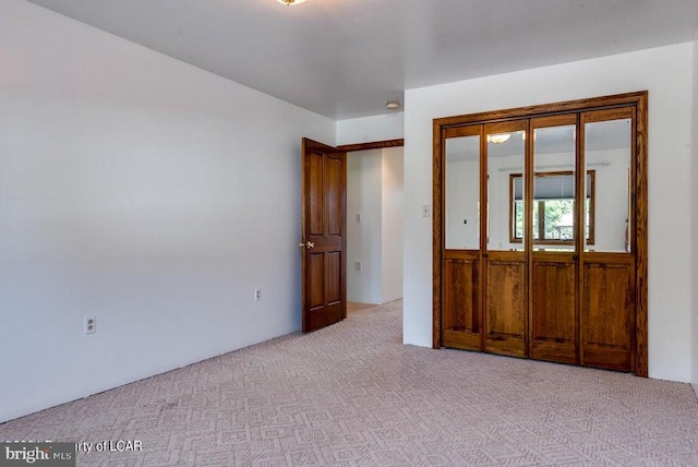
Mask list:
[{"label": "brown wooden frame trim around the mirrored closet doors", "polygon": [[561,101],[546,105],[437,118],[433,120],[433,285],[432,285],[432,346],[442,346],[443,308],[443,248],[444,248],[444,147],[443,132],[448,128],[474,124],[484,121],[507,121],[567,112],[634,107],[636,111],[635,141],[635,374],[648,376],[648,191],[647,191],[647,133],[648,92],[635,92],[587,99]]}]

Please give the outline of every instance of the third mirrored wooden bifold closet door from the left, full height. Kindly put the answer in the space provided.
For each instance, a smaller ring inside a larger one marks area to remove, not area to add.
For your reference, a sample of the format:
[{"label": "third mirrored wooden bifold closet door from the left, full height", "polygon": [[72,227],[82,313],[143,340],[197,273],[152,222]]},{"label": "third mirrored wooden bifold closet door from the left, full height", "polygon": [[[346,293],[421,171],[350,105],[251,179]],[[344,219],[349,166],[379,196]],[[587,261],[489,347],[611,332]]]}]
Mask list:
[{"label": "third mirrored wooden bifold closet door from the left, full height", "polygon": [[564,363],[578,362],[578,211],[590,206],[578,201],[576,127],[575,115],[531,120],[529,355]]}]

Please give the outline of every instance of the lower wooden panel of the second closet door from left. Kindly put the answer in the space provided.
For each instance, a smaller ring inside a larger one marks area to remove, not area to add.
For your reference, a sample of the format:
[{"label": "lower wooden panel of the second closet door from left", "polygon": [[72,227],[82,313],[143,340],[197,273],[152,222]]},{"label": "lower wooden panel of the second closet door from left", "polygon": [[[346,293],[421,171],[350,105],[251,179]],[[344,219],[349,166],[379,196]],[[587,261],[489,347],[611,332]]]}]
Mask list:
[{"label": "lower wooden panel of the second closet door from left", "polygon": [[485,350],[525,357],[527,294],[524,253],[489,253],[485,288]]}]

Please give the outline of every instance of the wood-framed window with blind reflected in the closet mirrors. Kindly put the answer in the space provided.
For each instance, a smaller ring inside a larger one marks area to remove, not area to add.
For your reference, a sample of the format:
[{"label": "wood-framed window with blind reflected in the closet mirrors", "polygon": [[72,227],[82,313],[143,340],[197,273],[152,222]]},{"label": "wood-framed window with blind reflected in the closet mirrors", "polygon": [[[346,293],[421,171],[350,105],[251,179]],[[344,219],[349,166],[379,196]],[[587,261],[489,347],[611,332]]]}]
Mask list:
[{"label": "wood-framed window with blind reflected in the closet mirrors", "polygon": [[[593,244],[594,170],[587,171],[585,190],[585,237]],[[538,172],[533,183],[533,243],[574,244],[575,241],[575,177],[571,171]],[[510,241],[524,241],[524,178],[509,176]]]}]

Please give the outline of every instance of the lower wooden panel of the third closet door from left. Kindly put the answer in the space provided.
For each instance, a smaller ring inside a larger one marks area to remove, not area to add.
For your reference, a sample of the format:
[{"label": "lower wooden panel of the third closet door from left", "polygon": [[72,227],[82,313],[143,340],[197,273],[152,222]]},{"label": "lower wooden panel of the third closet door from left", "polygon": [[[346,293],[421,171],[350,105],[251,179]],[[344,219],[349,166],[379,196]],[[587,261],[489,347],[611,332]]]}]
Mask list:
[{"label": "lower wooden panel of the third closet door from left", "polygon": [[533,262],[531,358],[577,362],[576,270],[574,261]]}]

